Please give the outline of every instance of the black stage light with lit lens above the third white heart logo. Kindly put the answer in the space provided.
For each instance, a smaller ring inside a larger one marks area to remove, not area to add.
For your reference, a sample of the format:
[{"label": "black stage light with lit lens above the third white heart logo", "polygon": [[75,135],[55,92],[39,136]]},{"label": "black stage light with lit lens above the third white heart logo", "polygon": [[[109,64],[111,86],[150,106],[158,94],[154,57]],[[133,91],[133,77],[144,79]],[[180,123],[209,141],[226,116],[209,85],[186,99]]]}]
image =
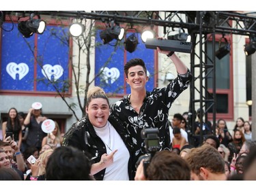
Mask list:
[{"label": "black stage light with lit lens above the third white heart logo", "polygon": [[124,28],[119,27],[112,20],[106,30],[100,31],[100,39],[102,39],[103,44],[108,44],[113,39],[122,40],[124,37]]}]

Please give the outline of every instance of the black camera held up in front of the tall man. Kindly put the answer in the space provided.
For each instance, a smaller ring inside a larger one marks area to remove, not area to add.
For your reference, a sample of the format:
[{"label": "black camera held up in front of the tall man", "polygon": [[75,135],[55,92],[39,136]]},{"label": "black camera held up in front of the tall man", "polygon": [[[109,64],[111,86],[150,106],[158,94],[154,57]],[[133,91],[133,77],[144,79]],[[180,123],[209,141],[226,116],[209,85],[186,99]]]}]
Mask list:
[{"label": "black camera held up in front of the tall man", "polygon": [[144,175],[147,178],[147,167],[150,164],[150,161],[154,154],[160,150],[160,142],[159,142],[159,130],[158,128],[145,128],[141,131],[141,138],[144,139],[145,144],[145,152],[147,154],[144,154],[139,157],[139,159],[136,162],[136,168],[139,166],[139,163],[141,160],[143,161],[143,171]]}]

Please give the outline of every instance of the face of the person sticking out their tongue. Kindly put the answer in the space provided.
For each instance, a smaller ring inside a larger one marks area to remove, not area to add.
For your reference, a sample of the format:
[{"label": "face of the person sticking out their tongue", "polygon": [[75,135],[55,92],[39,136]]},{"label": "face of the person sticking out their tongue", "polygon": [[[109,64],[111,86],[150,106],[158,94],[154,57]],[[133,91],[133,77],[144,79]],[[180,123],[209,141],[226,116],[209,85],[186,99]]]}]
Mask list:
[{"label": "face of the person sticking out their tongue", "polygon": [[103,127],[109,118],[109,103],[103,98],[91,99],[86,113],[93,126]]}]

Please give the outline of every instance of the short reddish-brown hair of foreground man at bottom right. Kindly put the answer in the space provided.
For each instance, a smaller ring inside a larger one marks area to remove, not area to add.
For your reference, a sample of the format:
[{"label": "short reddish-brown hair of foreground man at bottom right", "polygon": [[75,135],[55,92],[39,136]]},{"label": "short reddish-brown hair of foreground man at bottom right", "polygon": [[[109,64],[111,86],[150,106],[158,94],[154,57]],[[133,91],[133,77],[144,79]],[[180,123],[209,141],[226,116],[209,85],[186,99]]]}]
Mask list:
[{"label": "short reddish-brown hair of foreground man at bottom right", "polygon": [[184,159],[196,175],[200,174],[201,167],[208,169],[211,173],[225,173],[225,160],[211,145],[204,144],[191,149]]}]

